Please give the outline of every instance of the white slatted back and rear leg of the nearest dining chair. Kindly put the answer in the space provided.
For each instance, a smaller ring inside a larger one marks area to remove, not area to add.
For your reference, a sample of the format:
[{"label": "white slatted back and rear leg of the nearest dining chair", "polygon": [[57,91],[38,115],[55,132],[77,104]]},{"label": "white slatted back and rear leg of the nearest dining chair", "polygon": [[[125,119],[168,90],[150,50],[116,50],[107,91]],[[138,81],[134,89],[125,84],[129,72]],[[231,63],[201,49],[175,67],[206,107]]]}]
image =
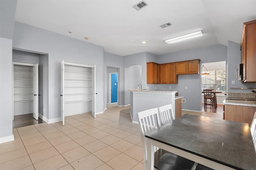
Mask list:
[{"label": "white slatted back and rear leg of the nearest dining chair", "polygon": [[[158,115],[158,109],[148,109],[145,111],[140,111],[137,113],[138,123],[140,126],[140,137],[142,141],[143,149],[143,160],[144,160],[144,169],[146,170],[147,166],[147,139],[145,137],[146,133],[149,133],[157,129],[160,125],[160,119]],[[156,148],[155,148],[156,150]]]}]

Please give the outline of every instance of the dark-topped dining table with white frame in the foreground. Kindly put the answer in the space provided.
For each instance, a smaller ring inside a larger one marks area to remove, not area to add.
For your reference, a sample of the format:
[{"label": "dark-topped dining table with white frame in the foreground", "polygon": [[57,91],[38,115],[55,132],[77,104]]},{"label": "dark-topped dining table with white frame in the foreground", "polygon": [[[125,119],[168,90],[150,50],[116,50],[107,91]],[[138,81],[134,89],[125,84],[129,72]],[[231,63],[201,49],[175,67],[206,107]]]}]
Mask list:
[{"label": "dark-topped dining table with white frame in the foreground", "polygon": [[185,114],[147,133],[147,169],[154,169],[154,146],[216,170],[256,170],[248,123]]}]

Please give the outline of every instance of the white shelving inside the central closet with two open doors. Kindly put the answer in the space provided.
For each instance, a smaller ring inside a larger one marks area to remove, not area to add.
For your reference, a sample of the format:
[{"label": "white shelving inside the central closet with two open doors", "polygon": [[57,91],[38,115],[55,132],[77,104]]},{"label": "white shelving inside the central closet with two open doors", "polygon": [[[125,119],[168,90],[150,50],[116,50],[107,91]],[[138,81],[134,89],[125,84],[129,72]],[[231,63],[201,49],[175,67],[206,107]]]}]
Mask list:
[{"label": "white shelving inside the central closet with two open doors", "polygon": [[92,68],[64,65],[65,115],[90,112],[92,109]]}]

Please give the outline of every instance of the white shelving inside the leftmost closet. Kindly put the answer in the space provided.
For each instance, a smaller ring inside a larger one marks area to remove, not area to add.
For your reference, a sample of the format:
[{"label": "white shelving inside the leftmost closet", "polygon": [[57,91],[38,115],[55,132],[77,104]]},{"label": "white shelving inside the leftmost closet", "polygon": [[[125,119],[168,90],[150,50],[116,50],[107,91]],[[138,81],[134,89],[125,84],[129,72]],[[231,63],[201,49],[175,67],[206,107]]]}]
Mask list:
[{"label": "white shelving inside the leftmost closet", "polygon": [[13,65],[14,115],[33,113],[33,66]]}]

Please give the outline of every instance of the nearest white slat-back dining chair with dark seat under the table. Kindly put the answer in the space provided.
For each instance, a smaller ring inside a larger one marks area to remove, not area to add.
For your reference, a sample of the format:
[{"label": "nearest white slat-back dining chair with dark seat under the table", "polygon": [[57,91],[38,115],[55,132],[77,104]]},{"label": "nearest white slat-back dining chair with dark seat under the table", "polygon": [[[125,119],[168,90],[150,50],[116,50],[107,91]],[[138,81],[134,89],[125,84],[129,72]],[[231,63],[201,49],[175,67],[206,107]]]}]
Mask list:
[{"label": "nearest white slat-back dining chair with dark seat under the table", "polygon": [[[158,115],[158,108],[148,109],[137,113],[138,122],[140,126],[140,137],[143,149],[143,163],[144,170],[147,169],[147,139],[146,133],[156,130],[160,127],[160,119]],[[154,168],[161,170],[193,170],[196,168],[195,162],[170,153],[163,149],[155,148],[154,153]]]}]

